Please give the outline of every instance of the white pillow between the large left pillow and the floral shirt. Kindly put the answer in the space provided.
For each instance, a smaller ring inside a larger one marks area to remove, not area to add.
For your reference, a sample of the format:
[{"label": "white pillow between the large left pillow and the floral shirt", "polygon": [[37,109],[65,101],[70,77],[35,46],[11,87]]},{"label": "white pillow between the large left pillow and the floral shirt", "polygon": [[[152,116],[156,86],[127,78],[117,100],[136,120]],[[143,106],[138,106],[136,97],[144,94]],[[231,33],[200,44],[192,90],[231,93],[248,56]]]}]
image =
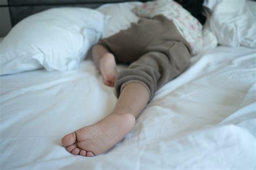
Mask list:
[{"label": "white pillow between the large left pillow and the floral shirt", "polygon": [[102,38],[110,37],[120,30],[128,29],[131,23],[137,23],[139,17],[132,12],[132,9],[141,4],[141,2],[126,2],[100,6],[97,10],[111,17],[105,26]]}]

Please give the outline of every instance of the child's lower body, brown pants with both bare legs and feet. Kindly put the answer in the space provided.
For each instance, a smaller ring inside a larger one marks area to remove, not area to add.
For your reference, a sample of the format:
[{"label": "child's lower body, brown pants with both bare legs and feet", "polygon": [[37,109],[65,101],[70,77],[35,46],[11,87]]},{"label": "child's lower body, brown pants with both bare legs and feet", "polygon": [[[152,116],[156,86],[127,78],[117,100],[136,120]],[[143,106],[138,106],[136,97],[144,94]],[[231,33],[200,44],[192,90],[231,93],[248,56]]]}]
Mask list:
[{"label": "child's lower body, brown pants with both bare legs and feet", "polygon": [[[118,143],[132,130],[155,91],[184,72],[191,51],[173,22],[163,15],[140,19],[129,29],[102,39],[92,48],[93,61],[105,84],[115,87],[118,101],[110,115],[63,137],[66,150],[93,157]],[[129,64],[129,68],[117,73],[116,62]]]}]

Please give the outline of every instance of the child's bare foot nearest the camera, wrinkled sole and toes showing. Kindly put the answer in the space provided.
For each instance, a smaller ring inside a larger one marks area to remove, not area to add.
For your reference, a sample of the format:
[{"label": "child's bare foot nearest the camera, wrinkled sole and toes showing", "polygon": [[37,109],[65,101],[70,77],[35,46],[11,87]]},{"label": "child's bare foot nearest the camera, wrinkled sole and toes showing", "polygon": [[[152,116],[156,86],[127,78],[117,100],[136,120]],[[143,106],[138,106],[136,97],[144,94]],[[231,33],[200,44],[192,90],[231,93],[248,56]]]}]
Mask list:
[{"label": "child's bare foot nearest the camera, wrinkled sole and toes showing", "polygon": [[62,145],[73,155],[94,157],[123,139],[134,124],[131,114],[110,114],[93,125],[67,134],[62,138]]}]

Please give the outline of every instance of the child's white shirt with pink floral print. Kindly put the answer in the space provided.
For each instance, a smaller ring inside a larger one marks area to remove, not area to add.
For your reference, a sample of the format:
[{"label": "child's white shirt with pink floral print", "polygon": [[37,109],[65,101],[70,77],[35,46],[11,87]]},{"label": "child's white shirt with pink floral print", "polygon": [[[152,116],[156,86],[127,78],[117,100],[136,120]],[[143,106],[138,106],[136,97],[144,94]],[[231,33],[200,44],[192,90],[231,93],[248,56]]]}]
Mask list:
[{"label": "child's white shirt with pink floral print", "polygon": [[180,34],[190,43],[195,55],[203,48],[203,26],[180,4],[170,0],[146,2],[134,9],[138,16],[152,18],[164,15],[172,20]]}]

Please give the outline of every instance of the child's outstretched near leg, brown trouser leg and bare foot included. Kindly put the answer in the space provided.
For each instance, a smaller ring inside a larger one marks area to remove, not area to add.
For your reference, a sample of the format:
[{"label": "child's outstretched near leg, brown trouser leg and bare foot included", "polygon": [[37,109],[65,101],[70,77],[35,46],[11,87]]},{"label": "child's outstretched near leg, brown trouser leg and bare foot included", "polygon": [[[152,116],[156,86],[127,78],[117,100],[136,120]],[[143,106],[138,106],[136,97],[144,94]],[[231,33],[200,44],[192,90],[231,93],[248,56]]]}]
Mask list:
[{"label": "child's outstretched near leg, brown trouser leg and bare foot included", "polygon": [[172,55],[150,52],[122,70],[115,84],[116,91],[128,84],[121,90],[112,113],[93,125],[66,135],[62,139],[63,146],[72,154],[92,157],[109,150],[124,138],[154,92],[188,66],[190,54],[184,45],[175,42],[170,46]]}]

